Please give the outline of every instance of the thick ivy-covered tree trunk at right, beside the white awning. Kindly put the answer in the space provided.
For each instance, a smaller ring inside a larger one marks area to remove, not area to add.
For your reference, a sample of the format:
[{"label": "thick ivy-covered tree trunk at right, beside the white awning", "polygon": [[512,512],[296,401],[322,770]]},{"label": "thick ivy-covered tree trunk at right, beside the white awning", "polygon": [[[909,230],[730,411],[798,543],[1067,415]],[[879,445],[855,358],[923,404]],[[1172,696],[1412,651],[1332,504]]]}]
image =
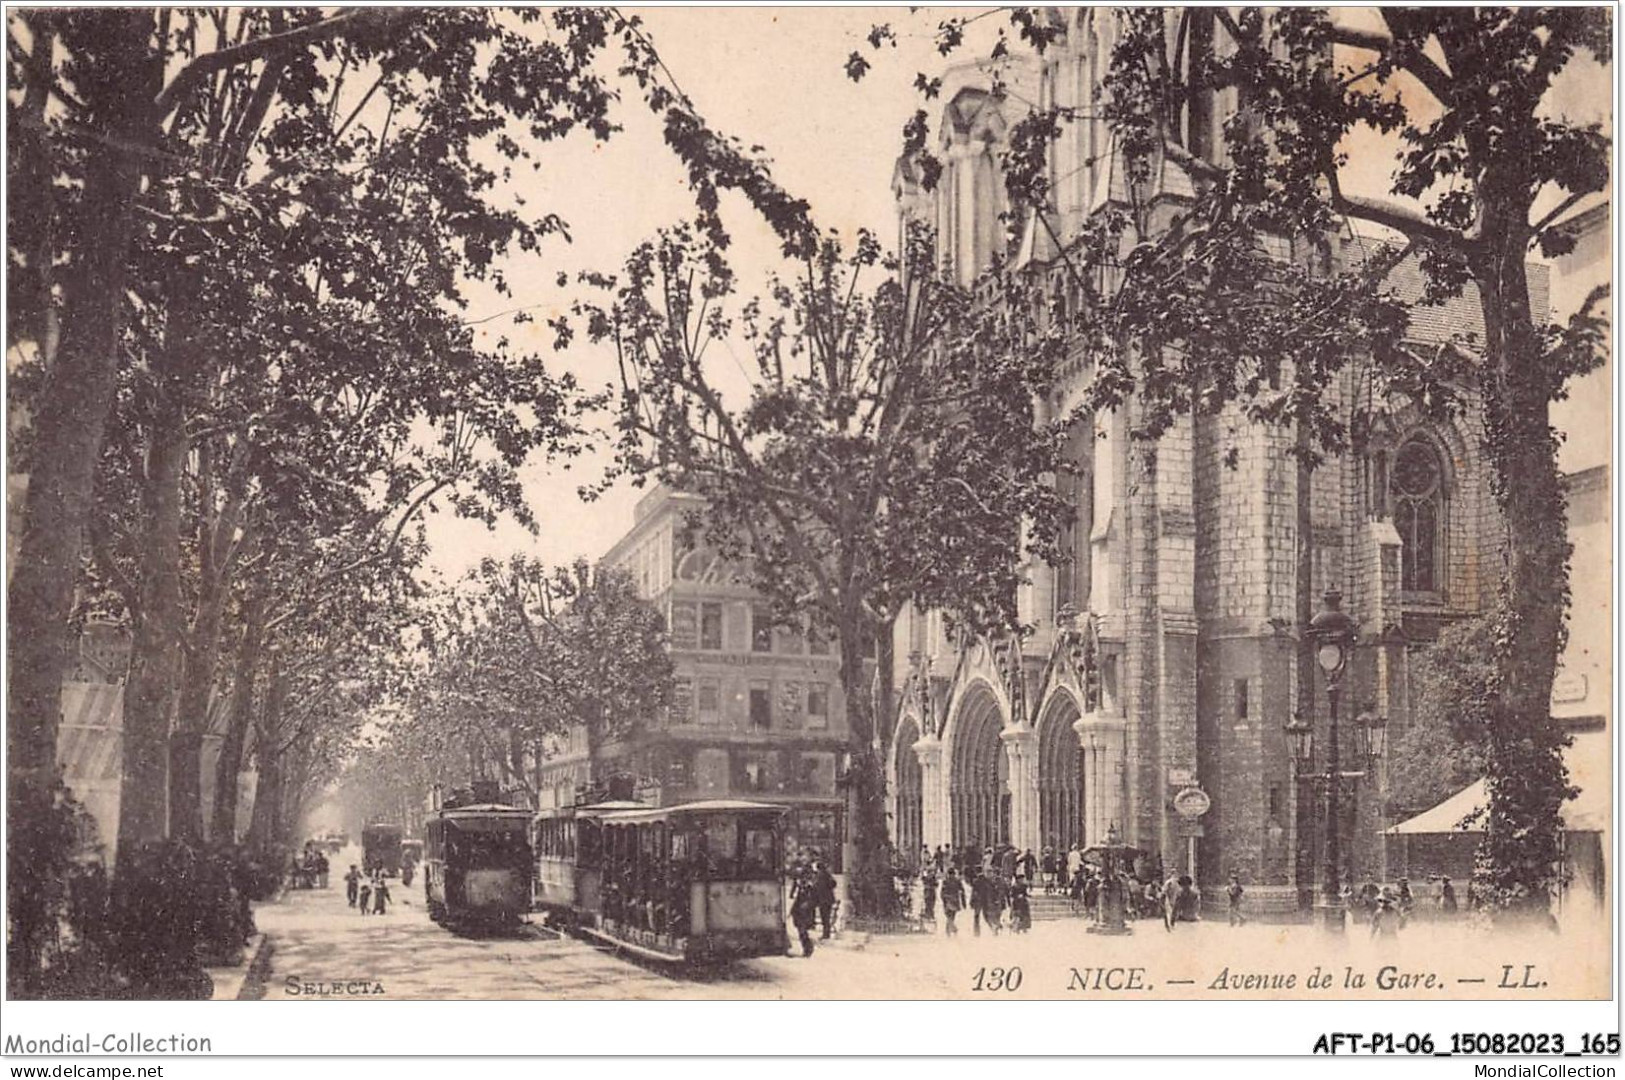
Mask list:
[{"label": "thick ivy-covered tree trunk at right, beside the white awning", "polygon": [[1524,218],[1508,219],[1516,224],[1492,229],[1493,253],[1474,265],[1488,375],[1484,445],[1506,523],[1485,770],[1490,807],[1476,887],[1497,908],[1544,916],[1558,883],[1568,797],[1568,736],[1552,719],[1568,607],[1568,510],[1549,417],[1558,387],[1529,310]]}]

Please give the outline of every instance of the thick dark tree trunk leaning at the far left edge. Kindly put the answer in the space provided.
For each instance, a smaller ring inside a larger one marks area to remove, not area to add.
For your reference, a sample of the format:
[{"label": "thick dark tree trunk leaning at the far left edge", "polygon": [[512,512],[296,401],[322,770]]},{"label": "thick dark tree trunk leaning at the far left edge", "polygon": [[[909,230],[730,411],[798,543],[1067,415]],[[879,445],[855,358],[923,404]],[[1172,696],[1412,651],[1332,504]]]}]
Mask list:
[{"label": "thick dark tree trunk leaning at the far left edge", "polygon": [[[135,222],[135,197],[153,145],[151,96],[162,76],[150,49],[154,11],[120,8],[99,13],[110,47],[104,80],[88,117],[88,133],[107,132],[84,180],[80,216],[83,240],[67,268],[62,336],[46,387],[29,417],[28,495],[8,585],[10,661],[6,697],[8,880],[36,882],[8,892],[8,957],[13,983],[37,970],[44,903],[44,822],[57,780],[57,724],[68,616],[80,568],[80,544],[89,518],[93,477],[117,374],[125,261]],[[81,93],[86,93],[81,88]],[[125,151],[125,153],[120,153]]]}]

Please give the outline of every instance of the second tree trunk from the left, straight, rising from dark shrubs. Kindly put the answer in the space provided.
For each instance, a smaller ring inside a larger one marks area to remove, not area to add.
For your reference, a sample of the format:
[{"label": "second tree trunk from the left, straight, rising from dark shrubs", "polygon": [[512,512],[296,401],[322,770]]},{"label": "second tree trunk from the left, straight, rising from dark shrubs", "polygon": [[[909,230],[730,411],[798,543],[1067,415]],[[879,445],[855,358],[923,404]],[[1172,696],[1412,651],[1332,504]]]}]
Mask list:
[{"label": "second tree trunk from the left, straight, rising from dark shrubs", "polygon": [[119,846],[166,835],[169,721],[180,676],[180,469],[187,445],[180,408],[159,390],[141,503],[141,609],[124,697],[124,784]]}]

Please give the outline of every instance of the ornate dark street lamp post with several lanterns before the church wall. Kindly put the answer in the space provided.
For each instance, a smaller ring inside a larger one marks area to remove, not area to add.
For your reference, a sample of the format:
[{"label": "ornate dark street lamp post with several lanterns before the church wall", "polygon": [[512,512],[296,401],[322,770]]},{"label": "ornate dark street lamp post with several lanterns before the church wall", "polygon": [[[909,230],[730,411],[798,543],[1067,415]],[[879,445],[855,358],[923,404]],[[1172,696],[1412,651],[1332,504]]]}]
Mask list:
[{"label": "ornate dark street lamp post with several lanterns before the church wall", "polygon": [[[1298,780],[1326,784],[1326,880],[1323,883],[1321,914],[1328,931],[1342,932],[1342,883],[1339,880],[1342,867],[1342,814],[1341,796],[1344,780],[1360,780],[1365,768],[1357,771],[1341,770],[1341,744],[1337,739],[1337,698],[1342,690],[1342,677],[1349,669],[1349,658],[1354,653],[1355,629],[1354,619],[1342,611],[1342,593],[1326,590],[1324,606],[1308,627],[1310,642],[1315,645],[1315,663],[1326,676],[1326,771],[1308,771],[1315,765],[1315,724],[1308,716],[1294,716],[1285,724],[1287,739],[1292,747],[1292,758],[1298,765]],[[1386,749],[1388,721],[1381,716],[1362,711],[1355,718],[1355,752],[1360,765],[1375,763]]]}]

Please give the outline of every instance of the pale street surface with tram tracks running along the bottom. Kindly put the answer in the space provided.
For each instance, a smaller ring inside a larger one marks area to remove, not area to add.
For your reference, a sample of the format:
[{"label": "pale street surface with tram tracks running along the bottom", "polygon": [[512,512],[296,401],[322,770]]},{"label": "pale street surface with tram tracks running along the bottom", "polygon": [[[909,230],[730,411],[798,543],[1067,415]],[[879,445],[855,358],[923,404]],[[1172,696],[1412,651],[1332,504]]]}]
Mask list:
[{"label": "pale street surface with tram tracks running along the bottom", "polygon": [[[512,935],[457,934],[429,921],[416,882],[393,882],[390,913],[362,918],[344,906],[338,877],[327,892],[289,892],[258,909],[275,950],[266,999],[1560,997],[1584,996],[1597,974],[1606,991],[1607,973],[1606,950],[1597,973],[1576,961],[1586,952],[1573,934],[1516,942],[1412,926],[1396,942],[1372,942],[1357,927],[1336,942],[1308,926],[1201,922],[1168,934],[1144,921],[1131,935],[1100,937],[1066,919],[975,937],[968,916],[956,939],[847,934],[809,960],[696,973],[561,937],[540,916]],[[1308,987],[1316,968],[1334,981]],[[1346,986],[1346,968],[1365,983]],[[1292,986],[1282,984],[1289,974]],[[1516,989],[1500,986],[1506,978]]]}]

